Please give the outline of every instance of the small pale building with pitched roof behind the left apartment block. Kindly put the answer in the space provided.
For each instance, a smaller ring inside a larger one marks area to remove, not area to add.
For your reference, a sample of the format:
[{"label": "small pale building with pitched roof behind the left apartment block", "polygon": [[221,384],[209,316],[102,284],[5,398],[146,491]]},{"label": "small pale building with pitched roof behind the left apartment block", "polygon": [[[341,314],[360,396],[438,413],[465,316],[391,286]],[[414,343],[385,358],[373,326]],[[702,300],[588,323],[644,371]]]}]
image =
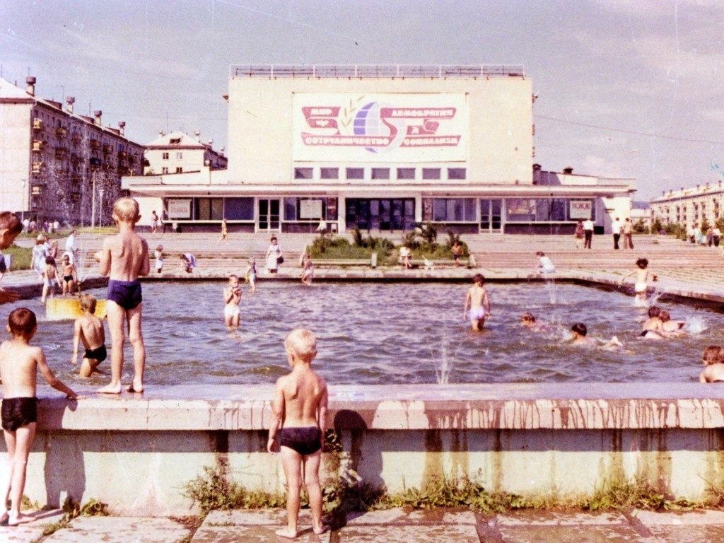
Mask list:
[{"label": "small pale building with pitched roof behind the left apartment block", "polygon": [[214,151],[208,143],[201,143],[201,132],[194,132],[191,138],[184,132],[159,132],[159,138],[146,143],[146,161],[144,161],[143,174],[169,174],[183,172],[200,172],[203,167],[210,169],[224,169],[227,167],[227,158],[224,148]]}]

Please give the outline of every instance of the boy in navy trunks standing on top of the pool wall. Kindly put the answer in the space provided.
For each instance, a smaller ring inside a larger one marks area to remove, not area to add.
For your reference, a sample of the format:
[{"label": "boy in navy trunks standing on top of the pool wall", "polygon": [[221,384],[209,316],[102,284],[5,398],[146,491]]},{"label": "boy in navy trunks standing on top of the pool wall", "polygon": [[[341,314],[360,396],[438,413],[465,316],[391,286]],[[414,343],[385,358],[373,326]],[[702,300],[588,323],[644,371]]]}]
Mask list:
[{"label": "boy in navy trunks standing on top of the pool wall", "polygon": [[123,344],[125,327],[133,348],[133,382],[128,392],[143,392],[143,371],[146,369],[146,346],[140,329],[141,296],[139,276],[148,275],[148,243],[135,232],[140,219],[138,202],[133,198],[119,198],[113,204],[113,220],[119,232],[103,240],[101,251],[96,253],[102,275],[109,275],[106,313],[111,331],[111,382],[98,392],[121,393],[123,370]]}]

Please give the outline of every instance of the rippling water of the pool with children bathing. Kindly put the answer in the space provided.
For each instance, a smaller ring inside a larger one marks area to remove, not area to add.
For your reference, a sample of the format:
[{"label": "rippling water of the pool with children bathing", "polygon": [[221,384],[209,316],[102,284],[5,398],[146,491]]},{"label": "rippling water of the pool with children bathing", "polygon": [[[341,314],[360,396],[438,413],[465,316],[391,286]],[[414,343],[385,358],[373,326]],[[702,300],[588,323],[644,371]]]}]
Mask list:
[{"label": "rippling water of the pool with children bathing", "polygon": [[[681,339],[641,340],[645,309],[620,292],[554,282],[487,285],[492,317],[483,332],[463,319],[468,284],[259,282],[244,287],[241,327],[224,326],[225,282],[146,282],[143,334],[146,384],[271,383],[288,371],[282,344],[295,327],[318,337],[316,369],[330,383],[691,382],[707,345],[724,345],[723,315],[662,303],[672,319],[686,320]],[[91,291],[104,297],[105,290]],[[41,323],[33,340],[51,368],[69,384],[84,381],[70,365],[72,321],[44,321],[39,300],[28,306]],[[521,326],[523,311],[545,325]],[[568,343],[571,325],[586,323],[589,337],[624,343],[621,350]],[[106,326],[106,344],[110,334]],[[105,375],[91,384],[105,384]],[[132,375],[125,349],[124,382]],[[42,379],[41,379],[42,381]]]}]

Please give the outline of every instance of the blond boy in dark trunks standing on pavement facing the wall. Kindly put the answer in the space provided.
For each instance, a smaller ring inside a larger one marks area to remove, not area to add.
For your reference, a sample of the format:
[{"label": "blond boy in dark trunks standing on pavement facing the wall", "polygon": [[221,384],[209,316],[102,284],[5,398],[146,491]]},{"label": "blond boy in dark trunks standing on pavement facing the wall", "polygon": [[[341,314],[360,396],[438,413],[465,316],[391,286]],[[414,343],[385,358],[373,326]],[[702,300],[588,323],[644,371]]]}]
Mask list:
[{"label": "blond boy in dark trunks standing on pavement facing the wall", "polygon": [[306,329],[295,329],[285,339],[290,374],[279,377],[274,390],[266,449],[281,450],[287,477],[287,526],[277,535],[296,537],[299,492],[304,483],[312,512],[312,529],[324,534],[328,526],[321,522],[319,463],[327,430],[327,383],[311,369],[316,356],[316,339]]}]

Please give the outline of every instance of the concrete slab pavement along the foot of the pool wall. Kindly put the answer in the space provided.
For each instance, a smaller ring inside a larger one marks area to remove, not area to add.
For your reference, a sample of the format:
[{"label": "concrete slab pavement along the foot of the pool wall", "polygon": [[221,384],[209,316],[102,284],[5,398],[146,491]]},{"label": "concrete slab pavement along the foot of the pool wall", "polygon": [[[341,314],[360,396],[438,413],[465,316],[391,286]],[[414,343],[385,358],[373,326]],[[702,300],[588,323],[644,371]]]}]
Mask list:
[{"label": "concrete slab pavement along the foot of the pool wall", "polygon": [[[274,534],[282,510],[212,511],[195,528],[179,518],[78,517],[62,526],[58,511],[34,523],[0,527],[8,543],[280,543]],[[55,525],[53,531],[52,526]],[[59,526],[59,527],[58,527]],[[516,510],[481,515],[465,509],[351,513],[321,536],[311,531],[308,510],[300,513],[297,541],[320,543],[720,543],[724,512]],[[43,535],[49,529],[50,534]]]}]

